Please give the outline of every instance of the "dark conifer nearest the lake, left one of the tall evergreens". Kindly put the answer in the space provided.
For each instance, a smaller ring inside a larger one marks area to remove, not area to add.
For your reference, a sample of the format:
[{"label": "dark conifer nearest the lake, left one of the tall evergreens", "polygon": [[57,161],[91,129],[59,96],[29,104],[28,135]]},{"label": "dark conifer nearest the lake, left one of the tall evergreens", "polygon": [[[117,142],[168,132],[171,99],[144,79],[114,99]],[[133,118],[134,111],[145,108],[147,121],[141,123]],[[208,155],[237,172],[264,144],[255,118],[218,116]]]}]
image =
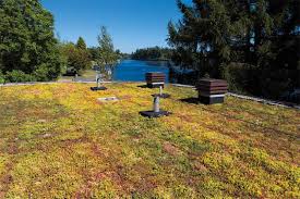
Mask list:
[{"label": "dark conifer nearest the lake, left one of the tall evergreens", "polygon": [[188,7],[178,0],[183,18],[169,23],[169,45],[177,51],[173,61],[184,67],[219,76],[218,66],[230,60],[232,24],[226,3],[193,0]]}]

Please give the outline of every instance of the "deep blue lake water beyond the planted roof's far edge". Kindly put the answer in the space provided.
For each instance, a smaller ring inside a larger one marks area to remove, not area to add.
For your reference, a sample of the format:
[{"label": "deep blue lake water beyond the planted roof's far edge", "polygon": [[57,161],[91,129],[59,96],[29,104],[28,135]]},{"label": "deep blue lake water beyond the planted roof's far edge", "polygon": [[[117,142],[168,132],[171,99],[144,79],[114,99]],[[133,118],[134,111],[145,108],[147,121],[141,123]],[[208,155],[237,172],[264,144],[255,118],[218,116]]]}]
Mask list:
[{"label": "deep blue lake water beyond the planted roof's far edge", "polygon": [[169,82],[169,69],[166,63],[152,63],[147,61],[123,60],[113,71],[113,80],[144,82],[145,73],[161,72]]}]

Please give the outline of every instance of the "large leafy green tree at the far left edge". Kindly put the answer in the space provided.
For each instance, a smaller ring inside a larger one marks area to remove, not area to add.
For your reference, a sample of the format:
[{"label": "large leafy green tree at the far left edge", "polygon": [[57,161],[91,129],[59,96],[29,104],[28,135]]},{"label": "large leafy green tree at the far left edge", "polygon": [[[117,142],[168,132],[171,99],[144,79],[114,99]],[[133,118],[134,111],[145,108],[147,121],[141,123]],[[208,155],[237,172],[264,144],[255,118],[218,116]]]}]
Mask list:
[{"label": "large leafy green tree at the far left edge", "polygon": [[[53,17],[38,0],[0,1],[0,70],[21,71],[34,80],[49,80],[61,72],[53,35]],[[16,73],[9,73],[16,74]]]}]

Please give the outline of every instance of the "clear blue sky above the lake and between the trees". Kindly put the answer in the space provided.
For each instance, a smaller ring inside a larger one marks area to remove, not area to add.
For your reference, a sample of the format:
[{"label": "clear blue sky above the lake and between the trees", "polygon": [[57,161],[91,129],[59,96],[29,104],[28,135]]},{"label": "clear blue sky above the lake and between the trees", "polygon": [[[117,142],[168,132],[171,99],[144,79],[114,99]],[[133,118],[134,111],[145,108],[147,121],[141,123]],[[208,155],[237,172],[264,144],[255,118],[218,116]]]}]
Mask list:
[{"label": "clear blue sky above the lake and between the trees", "polygon": [[[184,0],[187,2],[189,0]],[[167,46],[167,24],[181,14],[176,0],[41,0],[56,20],[61,40],[97,46],[100,26],[110,33],[115,48],[132,52],[137,48]]]}]

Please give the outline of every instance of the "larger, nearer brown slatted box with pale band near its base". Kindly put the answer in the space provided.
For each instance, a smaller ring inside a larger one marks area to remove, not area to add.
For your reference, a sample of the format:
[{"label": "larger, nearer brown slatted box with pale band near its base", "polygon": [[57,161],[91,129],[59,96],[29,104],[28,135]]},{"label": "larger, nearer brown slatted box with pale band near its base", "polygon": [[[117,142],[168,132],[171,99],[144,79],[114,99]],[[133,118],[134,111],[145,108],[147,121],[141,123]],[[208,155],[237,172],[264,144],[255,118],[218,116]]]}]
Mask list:
[{"label": "larger, nearer brown slatted box with pale band near its base", "polygon": [[202,78],[196,85],[200,102],[205,104],[223,103],[228,91],[226,80]]}]

